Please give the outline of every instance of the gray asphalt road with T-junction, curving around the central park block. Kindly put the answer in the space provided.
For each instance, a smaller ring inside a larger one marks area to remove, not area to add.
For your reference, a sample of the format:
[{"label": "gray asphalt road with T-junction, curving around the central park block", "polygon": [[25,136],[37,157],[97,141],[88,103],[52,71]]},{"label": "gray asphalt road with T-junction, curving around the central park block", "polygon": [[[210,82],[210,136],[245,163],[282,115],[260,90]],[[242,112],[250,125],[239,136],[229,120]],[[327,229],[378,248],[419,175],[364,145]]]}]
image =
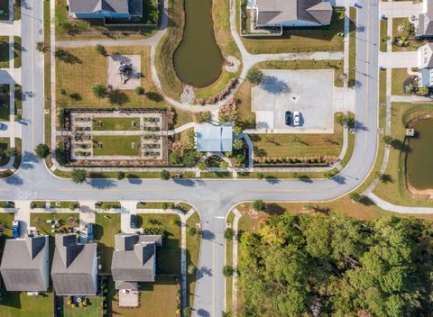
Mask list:
[{"label": "gray asphalt road with T-junction, curving around the central park block", "polygon": [[43,140],[43,63],[35,50],[41,41],[42,2],[23,5],[23,166],[0,182],[5,200],[180,200],[201,214],[203,243],[200,249],[195,312],[219,317],[224,309],[224,220],[235,204],[255,199],[268,201],[326,201],[359,186],[373,167],[378,138],[378,0],[360,1],[356,43],[356,135],[349,164],[332,180],[107,180],[92,179],[74,185],[53,177],[32,150]]}]

